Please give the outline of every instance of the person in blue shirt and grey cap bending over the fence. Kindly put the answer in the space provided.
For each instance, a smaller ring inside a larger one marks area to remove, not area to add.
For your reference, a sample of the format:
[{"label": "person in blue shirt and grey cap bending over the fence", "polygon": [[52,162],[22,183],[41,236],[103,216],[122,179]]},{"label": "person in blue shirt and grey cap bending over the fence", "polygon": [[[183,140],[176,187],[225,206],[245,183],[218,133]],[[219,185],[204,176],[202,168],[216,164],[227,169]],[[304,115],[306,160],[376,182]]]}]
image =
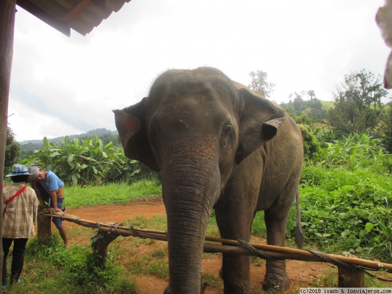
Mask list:
[{"label": "person in blue shirt and grey cap bending over the fence", "polygon": [[[28,167],[28,172],[31,173],[29,180],[31,181],[31,187],[34,189],[39,200],[38,212],[46,209],[47,204],[54,208],[54,211],[63,212],[64,202],[64,182],[51,171],[43,171],[36,164]],[[61,239],[64,241],[66,248],[69,248],[68,236],[63,222],[59,218],[52,218],[52,222],[58,229]]]}]

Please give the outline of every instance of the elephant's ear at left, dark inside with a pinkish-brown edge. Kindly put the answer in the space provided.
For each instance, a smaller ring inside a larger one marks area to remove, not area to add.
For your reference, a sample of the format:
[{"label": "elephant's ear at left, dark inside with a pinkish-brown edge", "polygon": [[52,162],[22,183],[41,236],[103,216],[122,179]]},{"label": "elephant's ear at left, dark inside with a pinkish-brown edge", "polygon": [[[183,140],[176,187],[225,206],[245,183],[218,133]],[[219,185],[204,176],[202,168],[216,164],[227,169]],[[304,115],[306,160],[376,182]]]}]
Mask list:
[{"label": "elephant's ear at left, dark inside with a pinkish-brown edge", "polygon": [[125,156],[138,160],[151,170],[159,172],[147,136],[146,113],[148,111],[148,98],[143,98],[139,103],[122,110],[113,110]]}]

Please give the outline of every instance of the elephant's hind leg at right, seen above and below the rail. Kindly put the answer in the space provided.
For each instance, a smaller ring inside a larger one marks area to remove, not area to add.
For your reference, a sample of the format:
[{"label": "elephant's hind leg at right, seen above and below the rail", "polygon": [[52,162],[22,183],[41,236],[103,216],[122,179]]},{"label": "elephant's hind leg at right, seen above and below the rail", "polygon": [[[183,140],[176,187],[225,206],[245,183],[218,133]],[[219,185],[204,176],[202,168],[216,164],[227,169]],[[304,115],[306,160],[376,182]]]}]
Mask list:
[{"label": "elephant's hind leg at right, seen above and below the rail", "polygon": [[[267,228],[268,245],[284,246],[286,237],[287,212],[265,211],[265,222]],[[286,272],[286,262],[282,260],[266,262],[266,276],[264,278],[264,290],[269,292],[286,291],[289,288],[290,280]]]}]

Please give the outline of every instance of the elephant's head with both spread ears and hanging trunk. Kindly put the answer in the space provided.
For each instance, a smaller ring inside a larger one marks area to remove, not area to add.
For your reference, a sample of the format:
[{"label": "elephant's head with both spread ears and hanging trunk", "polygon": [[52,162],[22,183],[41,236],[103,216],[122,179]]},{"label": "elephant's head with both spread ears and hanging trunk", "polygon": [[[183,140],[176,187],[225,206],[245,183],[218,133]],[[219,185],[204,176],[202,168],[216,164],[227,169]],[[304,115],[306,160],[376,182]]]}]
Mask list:
[{"label": "elephant's head with both spread ears and hanging trunk", "polygon": [[170,70],[149,95],[114,110],[125,155],[161,172],[170,293],[200,293],[214,204],[233,169],[277,133],[285,112],[212,68]]}]

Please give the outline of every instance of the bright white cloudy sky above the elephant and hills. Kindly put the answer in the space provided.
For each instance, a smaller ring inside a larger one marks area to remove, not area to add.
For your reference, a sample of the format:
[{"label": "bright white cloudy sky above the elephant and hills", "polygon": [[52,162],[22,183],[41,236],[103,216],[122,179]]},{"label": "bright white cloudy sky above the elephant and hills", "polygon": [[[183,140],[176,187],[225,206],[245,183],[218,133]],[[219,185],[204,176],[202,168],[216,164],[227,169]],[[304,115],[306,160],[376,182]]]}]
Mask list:
[{"label": "bright white cloudy sky above the elephant and hills", "polygon": [[[67,37],[19,6],[8,106],[19,142],[115,130],[113,109],[148,96],[168,69],[210,66],[270,99],[314,90],[332,101],[344,74],[384,73],[375,22],[384,0],[131,0],[87,36]],[[392,96],[392,95],[391,95]]]}]

